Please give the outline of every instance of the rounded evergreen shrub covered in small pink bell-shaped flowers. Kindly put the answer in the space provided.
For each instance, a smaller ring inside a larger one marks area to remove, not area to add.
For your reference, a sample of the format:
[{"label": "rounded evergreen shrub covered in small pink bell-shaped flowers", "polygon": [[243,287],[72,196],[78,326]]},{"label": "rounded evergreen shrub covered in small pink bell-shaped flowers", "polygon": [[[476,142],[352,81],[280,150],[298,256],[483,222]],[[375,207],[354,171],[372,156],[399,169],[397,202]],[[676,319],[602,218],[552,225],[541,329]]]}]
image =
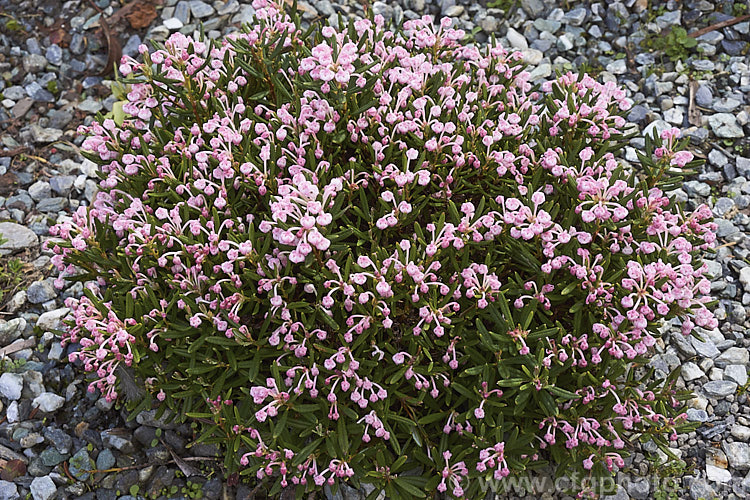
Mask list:
[{"label": "rounded evergreen shrub covered in small pink bell-shaped flowers", "polygon": [[678,131],[636,174],[612,83],[535,89],[449,20],[302,33],[255,7],[124,58],[126,119],[84,129],[102,190],[51,246],[87,283],[65,340],[89,390],[134,372],[134,410],[193,419],[272,494],[476,498],[549,461],[585,487],[675,438],[676,374],[636,368],[662,321],[716,326],[711,211],[665,195],[694,166]]}]

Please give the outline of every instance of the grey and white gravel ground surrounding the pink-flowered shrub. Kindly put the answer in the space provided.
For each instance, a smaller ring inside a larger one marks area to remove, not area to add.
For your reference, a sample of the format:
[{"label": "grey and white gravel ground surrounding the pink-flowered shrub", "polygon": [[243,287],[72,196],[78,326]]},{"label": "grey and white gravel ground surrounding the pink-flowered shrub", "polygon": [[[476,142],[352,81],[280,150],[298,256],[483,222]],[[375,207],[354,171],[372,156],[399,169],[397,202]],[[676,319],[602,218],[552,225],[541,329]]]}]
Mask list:
[{"label": "grey and white gravel ground surrounding the pink-flowered shrub", "polygon": [[[522,50],[533,77],[585,68],[616,80],[635,106],[629,119],[647,133],[677,126],[691,150],[706,158],[700,174],[673,193],[689,206],[708,203],[720,246],[708,265],[715,279],[720,327],[704,342],[664,327],[652,365],[682,365],[680,384],[692,389],[689,419],[696,432],[680,436],[674,453],[684,465],[655,466],[661,452],[635,450],[611,498],[747,498],[750,496],[750,24],[720,27],[687,48],[670,30],[688,33],[731,21],[745,1],[353,0],[298,2],[305,22],[362,16],[364,8],[395,21],[445,15],[478,43],[492,35]],[[142,40],[170,32],[192,34],[198,23],[218,37],[251,18],[249,1],[0,0],[0,500],[33,498],[253,498],[253,485],[229,484],[211,457],[190,446],[188,425],[131,422],[96,394],[67,364],[59,337],[65,297],[50,258],[41,251],[48,228],[97,189],[96,167],[80,156],[75,129],[112,109],[103,69]],[[103,23],[102,20],[105,22]],[[106,24],[106,27],[104,26]],[[674,31],[673,33],[676,33]],[[649,52],[668,41],[668,52]],[[675,57],[672,61],[670,56]],[[637,160],[642,141],[626,149]],[[15,267],[11,259],[18,259]],[[20,267],[19,267],[20,266]],[[16,282],[10,282],[18,277]],[[8,290],[10,290],[8,292]],[[661,454],[661,458],[666,456]],[[90,470],[98,472],[88,472]],[[672,483],[666,477],[674,477]],[[346,489],[328,498],[360,499]],[[522,495],[521,495],[522,496]],[[528,498],[562,498],[548,488]]]}]

